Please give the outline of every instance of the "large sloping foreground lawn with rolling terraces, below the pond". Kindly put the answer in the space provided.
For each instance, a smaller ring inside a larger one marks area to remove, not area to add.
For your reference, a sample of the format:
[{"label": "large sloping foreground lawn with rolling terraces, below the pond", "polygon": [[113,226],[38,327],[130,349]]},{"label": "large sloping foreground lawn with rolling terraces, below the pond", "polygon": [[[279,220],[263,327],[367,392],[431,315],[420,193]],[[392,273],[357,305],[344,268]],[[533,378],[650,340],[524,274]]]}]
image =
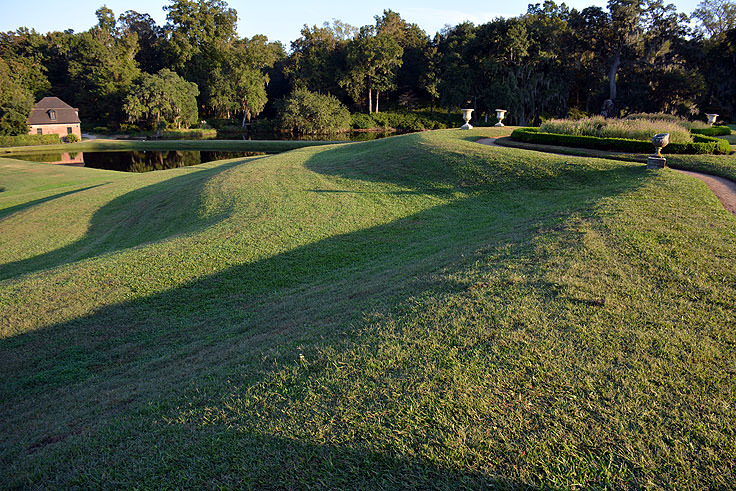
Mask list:
[{"label": "large sloping foreground lawn with rolling terraces, below the pond", "polygon": [[0,158],[0,481],[729,487],[736,218],[500,134]]}]

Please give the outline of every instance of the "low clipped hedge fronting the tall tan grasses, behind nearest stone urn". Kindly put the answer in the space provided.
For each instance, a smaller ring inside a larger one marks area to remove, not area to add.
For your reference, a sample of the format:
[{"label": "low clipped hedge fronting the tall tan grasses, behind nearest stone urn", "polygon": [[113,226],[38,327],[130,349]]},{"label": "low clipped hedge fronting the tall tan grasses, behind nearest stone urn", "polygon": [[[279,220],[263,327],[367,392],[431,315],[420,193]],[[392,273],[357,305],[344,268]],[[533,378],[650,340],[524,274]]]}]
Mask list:
[{"label": "low clipped hedge fronting the tall tan grasses, behind nearest stone urn", "polygon": [[[539,128],[519,128],[511,133],[511,138],[527,143],[559,145],[563,147],[592,148],[594,150],[613,150],[617,152],[652,152],[652,143],[644,140],[625,138],[599,138],[597,136],[562,135],[542,133]],[[729,154],[731,145],[726,140],[710,136],[693,135],[692,143],[670,143],[663,153],[670,154]]]}]

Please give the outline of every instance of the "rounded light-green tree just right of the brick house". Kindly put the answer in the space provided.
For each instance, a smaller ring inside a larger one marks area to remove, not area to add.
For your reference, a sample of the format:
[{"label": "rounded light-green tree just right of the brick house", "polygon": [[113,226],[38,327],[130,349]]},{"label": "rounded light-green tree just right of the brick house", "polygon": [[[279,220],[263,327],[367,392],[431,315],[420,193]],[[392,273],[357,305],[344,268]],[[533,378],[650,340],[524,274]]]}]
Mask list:
[{"label": "rounded light-green tree just right of the brick house", "polygon": [[156,75],[143,74],[125,98],[123,109],[128,121],[156,128],[168,123],[181,128],[199,122],[197,86],[175,72],[163,68]]}]

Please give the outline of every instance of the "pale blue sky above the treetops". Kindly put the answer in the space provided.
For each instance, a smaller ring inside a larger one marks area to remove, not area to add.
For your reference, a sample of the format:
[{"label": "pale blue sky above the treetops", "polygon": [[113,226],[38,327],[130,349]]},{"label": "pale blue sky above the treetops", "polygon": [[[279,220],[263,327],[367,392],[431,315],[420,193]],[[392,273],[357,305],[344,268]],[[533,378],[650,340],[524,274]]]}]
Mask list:
[{"label": "pale blue sky above the treetops", "polygon": [[[303,24],[322,25],[324,21],[340,19],[355,26],[373,23],[373,16],[384,9],[392,9],[410,21],[416,22],[433,35],[445,24],[455,25],[465,20],[483,23],[494,17],[511,17],[526,12],[529,3],[509,0],[232,0],[228,4],[238,11],[238,33],[241,36],[265,34],[270,40],[281,41],[289,48],[289,42],[299,37]],[[674,0],[680,12],[691,13],[700,0]],[[561,2],[558,2],[561,3]],[[567,5],[578,9],[590,5],[605,6],[606,0],[569,0]],[[25,26],[39,32],[74,29],[85,31],[96,23],[94,12],[106,4],[115,15],[126,10],[150,14],[158,24],[166,20],[162,6],[167,0],[0,0],[0,31],[15,30]]]}]

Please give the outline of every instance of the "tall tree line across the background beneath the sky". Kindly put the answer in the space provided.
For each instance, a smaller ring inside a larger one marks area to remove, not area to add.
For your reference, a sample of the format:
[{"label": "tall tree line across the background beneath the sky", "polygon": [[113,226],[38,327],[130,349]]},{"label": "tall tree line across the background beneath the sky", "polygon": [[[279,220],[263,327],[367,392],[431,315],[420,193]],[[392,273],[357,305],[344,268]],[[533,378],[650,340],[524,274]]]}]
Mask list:
[{"label": "tall tree line across the background beneath the sky", "polygon": [[237,35],[224,0],[170,0],[166,24],[97,10],[97,25],[0,34],[0,133],[24,132],[34,100],[54,95],[83,121],[119,127],[274,115],[295,90],[353,111],[509,110],[509,121],[616,111],[733,118],[736,4],[704,0],[687,15],[662,0],[609,0],[571,9],[554,1],[434,36],[385,10],[374,23],[304,26],[287,49]]}]

